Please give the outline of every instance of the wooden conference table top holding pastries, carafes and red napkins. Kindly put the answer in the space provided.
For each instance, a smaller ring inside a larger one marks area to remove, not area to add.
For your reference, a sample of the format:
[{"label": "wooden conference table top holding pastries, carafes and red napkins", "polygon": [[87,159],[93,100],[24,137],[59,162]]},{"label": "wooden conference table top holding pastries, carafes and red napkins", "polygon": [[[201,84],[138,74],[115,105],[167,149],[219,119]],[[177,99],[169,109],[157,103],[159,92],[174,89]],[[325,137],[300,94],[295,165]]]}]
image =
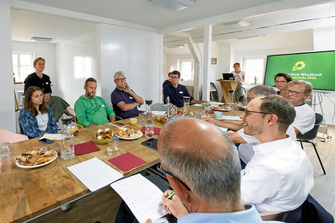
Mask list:
[{"label": "wooden conference table top holding pastries, carafes and red napkins", "polygon": [[[190,110],[191,112],[195,112],[201,111],[202,108],[190,106]],[[224,113],[226,115],[239,116],[242,111],[231,110]],[[117,122],[130,124],[129,119],[119,120]],[[115,122],[113,123],[116,124]],[[135,127],[141,128],[142,125],[137,123]],[[162,122],[156,121],[154,127],[164,128],[164,125]],[[93,141],[93,143],[99,147],[100,151],[75,155],[74,158],[70,160],[63,160],[59,156],[53,162],[38,168],[24,169],[13,164],[12,171],[1,173],[0,222],[23,222],[90,194],[90,190],[67,169],[68,166],[96,156],[126,177],[159,162],[157,151],[141,145],[141,142],[146,140],[144,134],[142,137],[134,140],[121,139],[118,141],[119,150],[117,155],[130,152],[146,161],[146,163],[126,173],[123,172],[107,161],[112,158],[107,154],[107,145],[99,144],[94,140],[94,135],[99,128],[110,128],[114,132],[116,130],[116,127],[109,124],[79,129],[78,135],[74,137],[74,144]],[[158,138],[158,135],[154,135],[153,137]],[[45,144],[39,142],[38,138],[12,143],[12,158],[14,160],[16,156],[23,152],[43,146],[45,146]],[[61,140],[55,140],[52,144],[49,144],[49,146],[60,150]]]}]

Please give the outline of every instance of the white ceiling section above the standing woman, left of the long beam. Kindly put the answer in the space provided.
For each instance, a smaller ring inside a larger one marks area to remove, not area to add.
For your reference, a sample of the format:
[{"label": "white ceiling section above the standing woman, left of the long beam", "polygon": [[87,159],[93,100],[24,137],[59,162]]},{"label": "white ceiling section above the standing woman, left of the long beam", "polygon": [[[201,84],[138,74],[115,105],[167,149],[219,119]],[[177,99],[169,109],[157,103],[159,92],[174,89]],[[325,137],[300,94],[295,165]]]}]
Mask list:
[{"label": "white ceiling section above the standing woman, left of the long beam", "polygon": [[51,43],[69,40],[96,30],[96,24],[76,19],[10,10],[13,41],[31,41],[31,37],[54,39]]}]

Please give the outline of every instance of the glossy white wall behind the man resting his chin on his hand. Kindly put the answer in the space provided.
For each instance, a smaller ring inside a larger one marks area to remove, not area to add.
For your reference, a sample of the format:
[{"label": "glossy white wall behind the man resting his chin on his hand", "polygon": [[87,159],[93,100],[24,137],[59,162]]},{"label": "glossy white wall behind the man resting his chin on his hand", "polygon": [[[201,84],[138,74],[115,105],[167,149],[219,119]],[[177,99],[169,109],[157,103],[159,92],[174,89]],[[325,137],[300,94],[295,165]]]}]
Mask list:
[{"label": "glossy white wall behind the man resting his chin on his hand", "polygon": [[[101,41],[98,50],[101,73],[98,79],[102,83],[102,97],[109,105],[112,105],[110,98],[115,88],[113,76],[116,71],[125,72],[131,89],[144,100],[159,102],[162,94],[160,81],[163,78],[159,75],[163,70],[160,67],[161,35],[102,23],[97,25],[97,32]],[[145,105],[140,109],[145,110]]]}]

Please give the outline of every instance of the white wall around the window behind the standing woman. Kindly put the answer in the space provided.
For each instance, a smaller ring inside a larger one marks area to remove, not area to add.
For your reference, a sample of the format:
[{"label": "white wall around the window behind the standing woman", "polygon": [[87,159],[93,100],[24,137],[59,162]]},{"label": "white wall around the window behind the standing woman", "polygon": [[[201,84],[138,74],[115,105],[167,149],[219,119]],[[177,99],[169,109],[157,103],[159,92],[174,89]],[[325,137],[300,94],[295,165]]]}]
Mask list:
[{"label": "white wall around the window behind the standing woman", "polygon": [[[39,43],[39,42],[20,42],[12,41],[13,51],[34,52],[34,60],[42,57],[46,61],[44,74],[50,77],[53,85],[53,94],[57,95],[57,78],[56,78],[56,54],[54,43]],[[23,90],[24,84],[15,84],[15,90]]]}]

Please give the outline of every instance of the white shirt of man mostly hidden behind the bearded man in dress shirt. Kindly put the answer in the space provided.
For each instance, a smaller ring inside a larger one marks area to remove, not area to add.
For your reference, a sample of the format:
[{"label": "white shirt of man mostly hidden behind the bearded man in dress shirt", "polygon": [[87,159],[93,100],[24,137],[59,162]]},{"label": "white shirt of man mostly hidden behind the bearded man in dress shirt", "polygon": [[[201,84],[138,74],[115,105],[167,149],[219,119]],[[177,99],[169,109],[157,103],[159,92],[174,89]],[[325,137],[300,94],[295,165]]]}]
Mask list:
[{"label": "white shirt of man mostly hidden behind the bearded man in dress shirt", "polygon": [[[248,162],[250,162],[250,160],[255,154],[253,146],[259,145],[260,142],[254,136],[245,134],[244,129],[240,129],[238,133],[247,142],[247,143],[241,143],[239,145],[239,156],[244,163],[248,164]],[[288,126],[286,134],[289,135],[294,142],[296,142],[296,135],[293,128],[293,124]]]}]

